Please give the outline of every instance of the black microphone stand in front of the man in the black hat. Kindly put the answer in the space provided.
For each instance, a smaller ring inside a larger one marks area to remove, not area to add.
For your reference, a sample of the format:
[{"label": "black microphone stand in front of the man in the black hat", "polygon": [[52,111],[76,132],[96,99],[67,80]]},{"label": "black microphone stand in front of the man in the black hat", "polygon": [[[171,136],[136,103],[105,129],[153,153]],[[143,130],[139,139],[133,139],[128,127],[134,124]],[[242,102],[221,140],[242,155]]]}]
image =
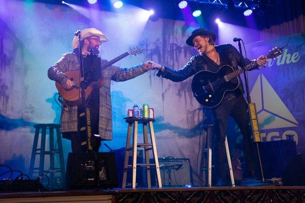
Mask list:
[{"label": "black microphone stand in front of the man in the black hat", "polygon": [[[240,55],[242,56],[240,41],[242,41],[242,40],[241,39],[238,40],[238,49],[239,49]],[[242,41],[242,43],[243,43],[243,41]],[[243,58],[243,56],[242,56],[241,68],[243,69],[243,77],[245,78],[247,103],[250,104],[251,103],[251,97],[250,97],[250,91],[249,91],[249,83],[248,83],[248,77],[247,77],[246,70],[245,70],[245,59]],[[248,111],[249,111],[249,109],[248,109]],[[258,156],[258,161],[259,161],[259,167],[260,167],[260,171],[261,171],[261,175],[262,175],[262,182],[265,182],[262,161],[261,161],[261,158],[260,158],[260,153],[259,153],[259,148],[258,148],[258,142],[255,142],[255,145],[256,145],[256,151],[257,151],[257,156]]]}]

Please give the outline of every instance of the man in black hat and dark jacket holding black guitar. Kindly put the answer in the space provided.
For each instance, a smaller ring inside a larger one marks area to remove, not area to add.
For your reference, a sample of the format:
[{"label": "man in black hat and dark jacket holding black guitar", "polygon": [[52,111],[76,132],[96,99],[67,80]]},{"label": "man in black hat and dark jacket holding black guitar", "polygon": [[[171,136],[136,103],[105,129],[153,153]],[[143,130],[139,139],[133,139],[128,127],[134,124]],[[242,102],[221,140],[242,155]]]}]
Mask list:
[{"label": "man in black hat and dark jacket holding black guitar", "polygon": [[[180,70],[173,70],[161,64],[153,62],[153,69],[159,69],[157,76],[170,79],[174,82],[186,80],[199,71],[217,72],[221,66],[230,65],[234,70],[242,66],[243,62],[249,64],[253,61],[244,59],[242,55],[230,44],[214,46],[216,41],[215,33],[206,29],[196,29],[187,39],[187,44],[195,47],[199,54],[192,56],[187,64]],[[264,66],[268,59],[260,56],[256,61],[257,66],[251,70]],[[243,153],[246,159],[246,176],[255,178],[255,158],[251,141],[251,130],[248,122],[248,105],[245,98],[243,85],[240,81],[238,88],[225,93],[220,105],[211,108],[215,127],[215,166],[218,173],[217,186],[227,185],[225,172],[225,137],[229,116],[233,117],[243,136]],[[245,175],[244,175],[245,177]]]}]

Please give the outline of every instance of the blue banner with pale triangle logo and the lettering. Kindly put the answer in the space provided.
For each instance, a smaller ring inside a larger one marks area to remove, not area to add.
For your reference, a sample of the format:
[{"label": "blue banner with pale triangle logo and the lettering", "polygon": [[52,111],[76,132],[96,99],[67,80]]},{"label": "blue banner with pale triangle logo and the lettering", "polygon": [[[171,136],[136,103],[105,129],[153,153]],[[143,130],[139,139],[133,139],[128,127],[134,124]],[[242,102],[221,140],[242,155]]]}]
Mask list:
[{"label": "blue banner with pale triangle logo and the lettering", "polygon": [[300,33],[247,46],[251,54],[248,58],[285,46],[283,54],[269,59],[266,67],[248,72],[249,88],[256,104],[261,140],[293,139],[300,153],[305,152],[304,37]]}]

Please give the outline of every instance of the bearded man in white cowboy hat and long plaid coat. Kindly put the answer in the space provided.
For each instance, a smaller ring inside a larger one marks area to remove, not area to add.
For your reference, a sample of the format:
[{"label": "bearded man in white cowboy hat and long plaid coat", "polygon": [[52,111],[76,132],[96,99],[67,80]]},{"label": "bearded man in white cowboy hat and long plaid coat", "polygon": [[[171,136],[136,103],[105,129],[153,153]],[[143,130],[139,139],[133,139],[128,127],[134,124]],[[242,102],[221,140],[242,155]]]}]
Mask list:
[{"label": "bearded man in white cowboy hat and long plaid coat", "polygon": [[[107,42],[108,38],[96,28],[87,28],[81,31],[81,53],[89,54],[92,49],[94,54],[100,53],[101,43]],[[65,75],[68,71],[79,70],[78,37],[72,41],[72,53],[66,53],[48,70],[48,77],[59,82],[65,89],[73,87],[74,83]],[[102,60],[102,63],[107,62]],[[104,85],[100,89],[94,89],[86,101],[86,108],[90,110],[92,134],[99,137],[91,137],[92,151],[99,151],[101,140],[112,140],[112,111],[110,98],[111,80],[119,82],[133,79],[151,69],[151,61],[139,64],[129,69],[122,69],[111,65],[103,71]],[[73,152],[88,151],[86,140],[79,129],[79,107],[64,106],[60,124],[63,137],[71,140]]]}]

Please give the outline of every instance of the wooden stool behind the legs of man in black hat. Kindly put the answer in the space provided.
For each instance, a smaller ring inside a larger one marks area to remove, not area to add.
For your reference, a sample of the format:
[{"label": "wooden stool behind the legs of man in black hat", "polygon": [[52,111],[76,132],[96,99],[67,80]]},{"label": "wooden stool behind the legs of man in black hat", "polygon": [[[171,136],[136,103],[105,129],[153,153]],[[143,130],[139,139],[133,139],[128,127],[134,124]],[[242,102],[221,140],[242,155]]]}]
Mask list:
[{"label": "wooden stool behind the legs of man in black hat", "polygon": [[[212,139],[212,127],[213,125],[204,125],[203,126],[203,142],[200,148],[202,153],[200,153],[200,172],[199,172],[199,186],[202,186],[203,172],[205,172],[205,181],[206,186],[211,187],[212,180],[212,148],[211,148],[211,139]],[[229,172],[232,186],[235,187],[234,176],[232,171],[231,157],[229,152],[228,140],[226,136],[225,140],[226,154],[229,165]],[[207,173],[206,173],[207,172]]]}]

